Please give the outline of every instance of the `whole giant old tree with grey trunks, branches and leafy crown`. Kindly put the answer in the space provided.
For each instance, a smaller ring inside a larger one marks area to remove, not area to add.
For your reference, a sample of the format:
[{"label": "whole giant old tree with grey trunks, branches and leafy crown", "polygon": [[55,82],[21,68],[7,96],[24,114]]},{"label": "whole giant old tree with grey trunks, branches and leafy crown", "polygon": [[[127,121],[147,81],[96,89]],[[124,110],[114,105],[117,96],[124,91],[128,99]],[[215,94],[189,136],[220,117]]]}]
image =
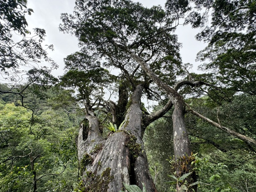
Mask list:
[{"label": "whole giant old tree with grey trunks, branches and leafy crown", "polygon": [[[175,159],[186,161],[191,155],[184,122],[186,104],[177,91],[184,84],[211,85],[195,82],[191,75],[189,80],[177,81],[188,71],[173,34],[181,15],[179,11],[174,13],[166,14],[160,6],[145,8],[130,0],[76,0],[74,13],[62,14],[60,30],[78,37],[81,48],[65,59],[67,71],[61,84],[76,89],[75,97],[84,106],[85,119],[77,138],[84,191],[119,191],[123,182],[140,188],[145,184],[148,192],[157,191],[148,171],[142,138],[147,125],[172,106]],[[116,71],[111,73],[112,69]],[[105,99],[106,90],[110,98],[118,97],[116,102]],[[141,102],[143,95],[165,106],[149,114]],[[189,110],[256,145],[254,140]],[[112,132],[104,138],[106,122]],[[177,167],[178,177],[191,171],[190,165],[184,168]],[[187,181],[192,183],[195,177]]]}]

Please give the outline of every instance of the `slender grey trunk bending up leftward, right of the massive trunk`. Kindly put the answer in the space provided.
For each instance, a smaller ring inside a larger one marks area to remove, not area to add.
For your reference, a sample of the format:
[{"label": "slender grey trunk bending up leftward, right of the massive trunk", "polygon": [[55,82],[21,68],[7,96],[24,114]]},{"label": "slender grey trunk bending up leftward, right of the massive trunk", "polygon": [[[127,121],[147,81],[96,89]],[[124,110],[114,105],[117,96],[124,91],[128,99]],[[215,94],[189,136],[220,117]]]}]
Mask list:
[{"label": "slender grey trunk bending up leftward, right of the massive trunk", "polygon": [[[163,90],[166,92],[169,99],[172,101],[174,105],[174,110],[172,114],[173,120],[173,146],[174,146],[174,157],[175,160],[179,161],[187,161],[187,156],[190,156],[190,142],[188,139],[188,132],[185,127],[184,121],[184,113],[185,113],[185,102],[181,95],[167,84],[165,84],[157,75],[154,74],[153,71],[147,66],[147,63],[138,55],[131,52],[128,48],[127,51],[129,55],[137,61],[137,63],[143,68],[146,74]],[[178,87],[178,86],[177,86]],[[178,88],[177,88],[178,89]],[[188,170],[191,170],[191,165],[187,165],[186,170],[181,170],[180,167],[176,167],[177,177],[181,177],[182,174],[186,173]],[[196,176],[193,173],[190,178],[188,178],[188,184],[195,182]],[[180,184],[177,184],[177,191],[183,191],[181,189]],[[196,185],[194,186],[194,190],[196,191]]]}]

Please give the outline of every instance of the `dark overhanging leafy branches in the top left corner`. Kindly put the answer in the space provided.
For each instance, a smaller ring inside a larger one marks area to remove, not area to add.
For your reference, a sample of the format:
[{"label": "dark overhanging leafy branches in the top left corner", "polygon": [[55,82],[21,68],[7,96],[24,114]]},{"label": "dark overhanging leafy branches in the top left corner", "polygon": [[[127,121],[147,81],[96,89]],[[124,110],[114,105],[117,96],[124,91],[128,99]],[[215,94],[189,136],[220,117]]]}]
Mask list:
[{"label": "dark overhanging leafy branches in the top left corner", "polygon": [[[40,63],[42,59],[55,65],[41,45],[45,37],[44,29],[36,28],[34,37],[26,37],[31,33],[26,29],[28,24],[25,14],[31,15],[34,12],[26,4],[26,0],[1,0],[0,18],[3,22],[0,23],[0,69],[5,74],[10,74],[7,69],[18,72],[21,66],[29,66],[31,62]],[[13,32],[22,39],[15,42]],[[48,49],[53,49],[53,46],[49,45]]]}]

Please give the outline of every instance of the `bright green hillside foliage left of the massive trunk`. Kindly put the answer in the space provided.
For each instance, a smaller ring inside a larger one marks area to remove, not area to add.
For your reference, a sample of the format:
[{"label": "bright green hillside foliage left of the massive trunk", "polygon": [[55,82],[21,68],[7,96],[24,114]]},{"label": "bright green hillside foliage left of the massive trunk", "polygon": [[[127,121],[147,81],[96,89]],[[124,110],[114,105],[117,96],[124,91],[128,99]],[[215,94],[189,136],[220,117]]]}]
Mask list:
[{"label": "bright green hillside foliage left of the massive trunk", "polygon": [[27,109],[1,100],[1,191],[29,191],[34,179],[43,191],[70,192],[76,185],[76,122],[47,102],[40,105],[44,110],[31,123]]}]

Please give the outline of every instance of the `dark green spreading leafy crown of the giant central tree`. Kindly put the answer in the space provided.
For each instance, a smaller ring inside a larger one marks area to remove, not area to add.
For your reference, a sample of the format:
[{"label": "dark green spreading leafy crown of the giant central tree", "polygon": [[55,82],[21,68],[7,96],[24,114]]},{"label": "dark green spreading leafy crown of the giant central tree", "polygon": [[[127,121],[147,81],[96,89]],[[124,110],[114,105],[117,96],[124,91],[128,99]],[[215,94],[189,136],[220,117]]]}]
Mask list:
[{"label": "dark green spreading leafy crown of the giant central tree", "polygon": [[[111,83],[115,85],[123,81],[131,90],[144,82],[148,98],[155,99],[158,96],[155,91],[159,91],[159,87],[152,84],[123,46],[139,53],[140,57],[148,61],[151,70],[168,84],[174,84],[176,75],[184,74],[178,53],[180,44],[177,36],[172,34],[172,23],[160,6],[145,8],[130,0],[118,3],[112,0],[77,0],[74,14],[62,14],[61,18],[63,23],[60,30],[74,34],[81,45],[79,52],[65,59],[66,67],[72,71],[84,71],[84,76],[94,67],[90,75],[92,88],[98,84],[98,90],[105,87],[109,89],[107,79],[112,79]],[[101,75],[105,82],[102,83],[94,79],[100,77],[94,72],[97,68],[115,68],[121,73],[112,78],[110,75],[106,78]],[[99,93],[93,93],[89,88],[82,87],[82,90],[89,90],[88,93],[98,97]],[[117,94],[117,89],[113,92]]]}]

